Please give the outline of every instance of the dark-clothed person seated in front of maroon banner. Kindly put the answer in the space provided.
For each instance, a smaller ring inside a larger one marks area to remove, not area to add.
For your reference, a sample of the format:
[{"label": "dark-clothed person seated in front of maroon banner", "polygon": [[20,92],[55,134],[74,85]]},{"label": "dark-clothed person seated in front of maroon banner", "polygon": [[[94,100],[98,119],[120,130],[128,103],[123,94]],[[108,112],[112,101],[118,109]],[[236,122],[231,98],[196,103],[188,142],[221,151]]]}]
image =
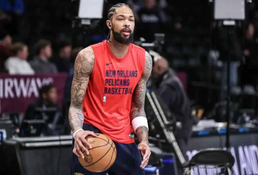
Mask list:
[{"label": "dark-clothed person seated in front of maroon banner", "polygon": [[57,100],[56,88],[51,84],[43,85],[40,89],[40,99],[28,106],[23,120],[43,119],[47,124],[44,135],[55,135],[56,125],[61,117]]}]

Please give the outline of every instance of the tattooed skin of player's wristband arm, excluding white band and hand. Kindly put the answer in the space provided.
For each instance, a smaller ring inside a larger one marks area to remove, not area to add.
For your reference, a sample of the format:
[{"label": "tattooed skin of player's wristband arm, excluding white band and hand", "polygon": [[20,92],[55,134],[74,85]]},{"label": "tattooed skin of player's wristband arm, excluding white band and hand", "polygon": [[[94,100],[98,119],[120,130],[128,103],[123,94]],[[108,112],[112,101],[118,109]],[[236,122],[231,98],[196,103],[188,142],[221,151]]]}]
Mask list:
[{"label": "tattooed skin of player's wristband arm, excluding white band and hand", "polygon": [[[150,73],[152,70],[152,58],[148,52],[145,52],[145,66],[142,77],[140,78],[138,84],[134,89],[134,93],[132,96],[132,110],[130,114],[131,120],[138,116],[144,116],[144,101],[146,94],[146,82],[150,77]],[[135,133],[139,139],[139,141],[147,141],[148,142],[148,128],[146,126],[140,126],[135,130]]]}]

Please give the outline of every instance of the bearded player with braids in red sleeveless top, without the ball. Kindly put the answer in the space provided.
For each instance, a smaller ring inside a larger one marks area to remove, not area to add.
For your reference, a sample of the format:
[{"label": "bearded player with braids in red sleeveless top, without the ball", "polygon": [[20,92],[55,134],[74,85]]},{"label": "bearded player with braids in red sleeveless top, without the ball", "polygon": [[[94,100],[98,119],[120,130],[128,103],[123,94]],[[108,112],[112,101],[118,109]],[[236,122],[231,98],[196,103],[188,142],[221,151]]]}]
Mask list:
[{"label": "bearded player with braids in red sleeveless top, without the ball", "polygon": [[[72,174],[143,175],[150,157],[144,99],[152,58],[132,44],[134,15],[130,6],[112,6],[106,24],[110,29],[107,40],[83,49],[75,60],[69,108],[74,138]],[[91,145],[85,137],[94,133],[109,136],[117,149],[114,164],[100,173],[87,171],[78,161],[89,154]]]}]

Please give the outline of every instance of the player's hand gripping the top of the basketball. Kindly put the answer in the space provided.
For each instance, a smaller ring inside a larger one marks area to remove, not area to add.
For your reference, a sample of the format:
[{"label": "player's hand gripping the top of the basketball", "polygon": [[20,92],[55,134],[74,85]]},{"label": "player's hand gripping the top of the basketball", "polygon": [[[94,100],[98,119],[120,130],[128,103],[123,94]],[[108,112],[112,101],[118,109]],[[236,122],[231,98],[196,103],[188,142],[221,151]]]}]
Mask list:
[{"label": "player's hand gripping the top of the basketball", "polygon": [[96,135],[92,131],[79,131],[75,135],[73,153],[78,157],[82,156],[83,159],[83,153],[86,152],[86,154],[89,155],[88,149],[92,148],[91,145],[85,139],[87,136],[95,137]]}]

